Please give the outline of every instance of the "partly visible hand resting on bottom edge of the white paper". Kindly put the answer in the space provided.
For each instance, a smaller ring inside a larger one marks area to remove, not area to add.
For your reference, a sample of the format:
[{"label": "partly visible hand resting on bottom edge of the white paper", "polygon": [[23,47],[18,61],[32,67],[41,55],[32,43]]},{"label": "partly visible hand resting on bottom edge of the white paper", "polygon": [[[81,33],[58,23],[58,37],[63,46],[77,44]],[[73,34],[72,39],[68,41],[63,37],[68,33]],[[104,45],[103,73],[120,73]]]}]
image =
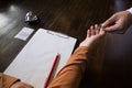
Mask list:
[{"label": "partly visible hand resting on bottom edge of the white paper", "polygon": [[29,84],[18,81],[18,82],[13,84],[10,88],[34,88],[34,87]]}]

